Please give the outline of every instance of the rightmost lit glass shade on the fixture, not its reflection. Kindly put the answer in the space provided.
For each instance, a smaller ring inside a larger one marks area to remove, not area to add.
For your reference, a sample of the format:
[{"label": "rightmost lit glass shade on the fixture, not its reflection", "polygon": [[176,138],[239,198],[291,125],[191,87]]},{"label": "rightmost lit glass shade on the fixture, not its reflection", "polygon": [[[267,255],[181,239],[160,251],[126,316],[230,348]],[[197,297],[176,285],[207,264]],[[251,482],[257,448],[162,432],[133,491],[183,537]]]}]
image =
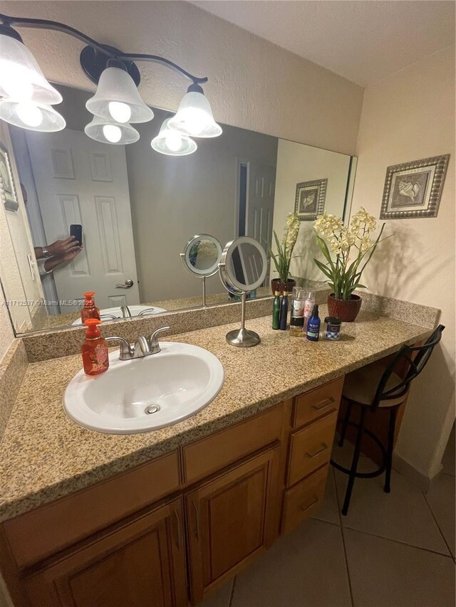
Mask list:
[{"label": "rightmost lit glass shade on the fixture, not its reflection", "polygon": [[222,127],[212,116],[209,101],[197,91],[184,95],[177,114],[170,118],[169,127],[191,137],[218,137],[222,134]]}]

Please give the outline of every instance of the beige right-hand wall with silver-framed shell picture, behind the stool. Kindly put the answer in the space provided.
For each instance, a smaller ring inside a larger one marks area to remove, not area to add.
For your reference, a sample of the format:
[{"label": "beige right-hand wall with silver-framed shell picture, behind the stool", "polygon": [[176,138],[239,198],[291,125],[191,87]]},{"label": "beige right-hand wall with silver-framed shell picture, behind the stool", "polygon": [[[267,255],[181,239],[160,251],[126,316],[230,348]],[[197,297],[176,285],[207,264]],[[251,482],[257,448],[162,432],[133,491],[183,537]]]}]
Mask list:
[{"label": "beige right-hand wall with silver-framed shell picture, behind the stool", "polygon": [[394,233],[363,283],[439,307],[442,347],[413,386],[397,454],[432,477],[455,417],[455,49],[445,48],[366,89],[353,209],[379,216],[386,167],[451,154],[437,218],[387,221]]}]

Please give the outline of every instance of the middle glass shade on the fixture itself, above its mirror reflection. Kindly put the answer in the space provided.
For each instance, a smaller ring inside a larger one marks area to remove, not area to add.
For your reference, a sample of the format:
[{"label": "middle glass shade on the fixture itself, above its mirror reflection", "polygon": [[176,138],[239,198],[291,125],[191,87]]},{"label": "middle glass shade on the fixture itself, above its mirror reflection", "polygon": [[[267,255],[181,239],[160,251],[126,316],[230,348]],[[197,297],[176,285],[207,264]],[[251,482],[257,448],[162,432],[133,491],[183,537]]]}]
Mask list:
[{"label": "middle glass shade on the fixture itself, above its mirror reflection", "polygon": [[86,103],[94,116],[115,122],[148,122],[154,112],[142,101],[133,78],[121,68],[106,68]]}]

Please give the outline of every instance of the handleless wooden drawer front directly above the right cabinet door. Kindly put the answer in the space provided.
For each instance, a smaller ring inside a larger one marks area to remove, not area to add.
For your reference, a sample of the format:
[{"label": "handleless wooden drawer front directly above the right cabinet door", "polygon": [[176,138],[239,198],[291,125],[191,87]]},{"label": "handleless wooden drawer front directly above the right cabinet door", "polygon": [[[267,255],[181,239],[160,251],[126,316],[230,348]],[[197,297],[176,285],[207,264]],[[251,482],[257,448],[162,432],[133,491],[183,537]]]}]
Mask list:
[{"label": "handleless wooden drawer front directly above the right cabinet door", "polygon": [[281,438],[283,403],[182,448],[185,482],[197,480]]}]

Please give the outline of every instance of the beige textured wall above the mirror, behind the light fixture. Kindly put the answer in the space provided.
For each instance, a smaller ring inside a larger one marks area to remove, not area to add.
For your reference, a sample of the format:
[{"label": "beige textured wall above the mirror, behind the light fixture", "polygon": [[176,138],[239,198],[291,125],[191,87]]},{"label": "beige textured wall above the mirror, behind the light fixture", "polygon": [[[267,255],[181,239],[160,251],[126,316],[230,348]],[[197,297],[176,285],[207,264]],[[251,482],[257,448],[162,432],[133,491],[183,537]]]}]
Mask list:
[{"label": "beige textured wall above the mirror, behind the light fixture", "polygon": [[[190,72],[208,75],[205,90],[220,122],[347,154],[355,151],[361,87],[192,4],[5,0],[1,10],[63,21],[104,43],[162,54]],[[50,80],[94,90],[79,65],[81,42],[53,31],[21,28],[21,34]],[[145,102],[176,110],[187,81],[153,63],[140,69]],[[11,339],[1,310],[0,356]]]}]

